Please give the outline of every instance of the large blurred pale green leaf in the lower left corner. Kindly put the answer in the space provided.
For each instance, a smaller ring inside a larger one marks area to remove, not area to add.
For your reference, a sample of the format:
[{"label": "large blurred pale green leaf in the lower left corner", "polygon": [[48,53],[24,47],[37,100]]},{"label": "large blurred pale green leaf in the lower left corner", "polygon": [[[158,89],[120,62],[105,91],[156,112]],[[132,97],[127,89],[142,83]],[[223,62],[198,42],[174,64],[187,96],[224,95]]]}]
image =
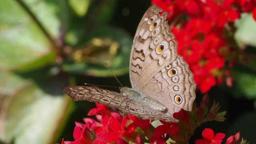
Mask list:
[{"label": "large blurred pale green leaf in the lower left corner", "polygon": [[67,83],[62,81],[64,78],[35,83],[6,71],[0,74],[0,140],[14,140],[14,144],[54,143],[62,122],[72,111],[71,99],[60,91]]}]

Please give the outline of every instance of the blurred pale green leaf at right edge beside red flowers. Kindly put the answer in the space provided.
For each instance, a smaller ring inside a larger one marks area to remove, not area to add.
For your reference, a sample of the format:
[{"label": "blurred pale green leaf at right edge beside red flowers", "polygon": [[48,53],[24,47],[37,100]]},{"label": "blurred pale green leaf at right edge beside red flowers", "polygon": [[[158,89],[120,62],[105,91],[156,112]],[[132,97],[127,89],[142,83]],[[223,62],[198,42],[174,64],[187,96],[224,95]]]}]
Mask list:
[{"label": "blurred pale green leaf at right edge beside red flowers", "polygon": [[252,14],[243,13],[240,20],[235,22],[237,30],[235,39],[238,45],[243,48],[246,45],[256,47],[256,22],[252,18]]}]

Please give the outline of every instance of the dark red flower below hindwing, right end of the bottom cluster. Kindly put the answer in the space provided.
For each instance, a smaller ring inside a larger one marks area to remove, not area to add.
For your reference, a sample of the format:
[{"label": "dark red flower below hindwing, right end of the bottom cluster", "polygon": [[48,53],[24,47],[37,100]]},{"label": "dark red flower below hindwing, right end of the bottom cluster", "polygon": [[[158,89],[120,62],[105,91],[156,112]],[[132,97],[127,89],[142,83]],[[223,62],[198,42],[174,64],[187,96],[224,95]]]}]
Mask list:
[{"label": "dark red flower below hindwing, right end of the bottom cluster", "polygon": [[174,122],[164,122],[160,120],[160,122],[164,125],[160,125],[156,127],[154,131],[154,136],[164,136],[164,134],[176,134],[179,129],[179,126]]}]

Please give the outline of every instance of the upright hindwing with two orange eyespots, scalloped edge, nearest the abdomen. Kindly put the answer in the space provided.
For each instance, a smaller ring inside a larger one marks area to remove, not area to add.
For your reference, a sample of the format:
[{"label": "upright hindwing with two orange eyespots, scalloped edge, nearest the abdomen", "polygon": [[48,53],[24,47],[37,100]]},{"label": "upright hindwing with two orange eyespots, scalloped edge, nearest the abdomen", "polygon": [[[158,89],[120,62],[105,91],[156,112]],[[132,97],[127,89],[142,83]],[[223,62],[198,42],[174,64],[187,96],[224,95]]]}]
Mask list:
[{"label": "upright hindwing with two orange eyespots, scalloped edge, nearest the abdomen", "polygon": [[158,71],[141,92],[160,102],[170,114],[181,108],[191,111],[196,98],[193,76],[188,64],[182,56],[178,56],[174,62]]}]

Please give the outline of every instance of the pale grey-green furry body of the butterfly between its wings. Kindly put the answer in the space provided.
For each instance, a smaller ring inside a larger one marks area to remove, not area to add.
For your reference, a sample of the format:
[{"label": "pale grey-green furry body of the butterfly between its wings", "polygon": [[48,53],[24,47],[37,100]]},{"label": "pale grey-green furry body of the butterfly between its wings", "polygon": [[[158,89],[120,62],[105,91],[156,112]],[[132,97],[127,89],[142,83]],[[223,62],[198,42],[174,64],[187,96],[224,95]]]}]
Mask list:
[{"label": "pale grey-green furry body of the butterfly between its wings", "polygon": [[149,98],[148,96],[142,94],[142,92],[128,87],[120,87],[120,93],[124,96],[127,96],[131,100],[135,100],[137,102],[141,102],[146,106],[150,106],[151,108],[159,111],[165,111],[166,108],[162,106],[158,101]]}]

